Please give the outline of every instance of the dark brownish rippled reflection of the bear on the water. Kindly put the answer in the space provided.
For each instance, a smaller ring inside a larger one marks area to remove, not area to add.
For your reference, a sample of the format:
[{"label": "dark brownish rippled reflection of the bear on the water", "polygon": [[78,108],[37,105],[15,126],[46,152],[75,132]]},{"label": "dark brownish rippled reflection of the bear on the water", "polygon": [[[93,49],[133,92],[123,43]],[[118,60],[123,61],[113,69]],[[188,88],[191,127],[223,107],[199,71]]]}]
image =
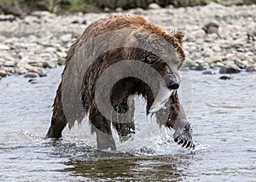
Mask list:
[{"label": "dark brownish rippled reflection of the bear on the water", "polygon": [[184,169],[189,168],[191,153],[173,155],[148,155],[141,150],[140,155],[123,151],[100,151],[78,143],[52,142],[53,157],[63,157],[67,168],[56,170],[84,179],[118,180],[160,180],[179,181],[184,178]]}]

